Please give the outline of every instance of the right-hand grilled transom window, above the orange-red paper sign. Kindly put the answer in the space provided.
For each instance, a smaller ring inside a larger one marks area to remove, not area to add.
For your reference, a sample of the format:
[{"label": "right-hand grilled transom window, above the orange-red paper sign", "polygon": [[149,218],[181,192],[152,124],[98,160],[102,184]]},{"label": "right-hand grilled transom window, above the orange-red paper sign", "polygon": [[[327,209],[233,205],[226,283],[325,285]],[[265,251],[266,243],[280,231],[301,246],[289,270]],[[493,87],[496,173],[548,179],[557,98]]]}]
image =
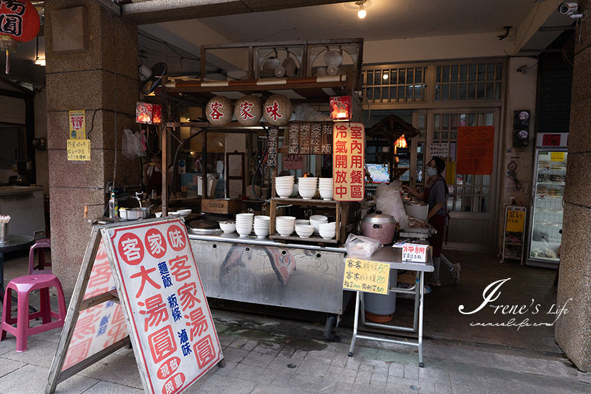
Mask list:
[{"label": "right-hand grilled transom window, above the orange-red paper sign", "polygon": [[500,100],[503,63],[438,65],[435,101]]}]

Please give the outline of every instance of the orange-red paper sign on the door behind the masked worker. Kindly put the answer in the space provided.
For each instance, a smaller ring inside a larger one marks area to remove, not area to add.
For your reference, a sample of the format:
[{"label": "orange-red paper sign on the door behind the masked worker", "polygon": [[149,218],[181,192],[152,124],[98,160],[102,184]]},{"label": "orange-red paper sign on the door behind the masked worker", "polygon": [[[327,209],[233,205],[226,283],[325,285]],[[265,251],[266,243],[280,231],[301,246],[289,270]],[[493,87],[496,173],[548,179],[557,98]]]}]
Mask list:
[{"label": "orange-red paper sign on the door behind the masked worker", "polygon": [[492,174],[494,126],[458,127],[458,174]]}]

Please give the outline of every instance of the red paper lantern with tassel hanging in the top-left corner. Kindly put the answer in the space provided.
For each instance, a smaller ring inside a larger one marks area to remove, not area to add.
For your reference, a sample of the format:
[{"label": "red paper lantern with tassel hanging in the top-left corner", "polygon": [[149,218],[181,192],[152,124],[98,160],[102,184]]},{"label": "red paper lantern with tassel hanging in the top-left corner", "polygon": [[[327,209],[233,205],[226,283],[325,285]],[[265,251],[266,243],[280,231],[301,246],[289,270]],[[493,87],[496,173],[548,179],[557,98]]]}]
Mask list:
[{"label": "red paper lantern with tassel hanging in the top-left corner", "polygon": [[29,0],[0,0],[0,49],[6,51],[6,69],[10,72],[8,54],[17,44],[33,40],[39,33],[40,19]]}]

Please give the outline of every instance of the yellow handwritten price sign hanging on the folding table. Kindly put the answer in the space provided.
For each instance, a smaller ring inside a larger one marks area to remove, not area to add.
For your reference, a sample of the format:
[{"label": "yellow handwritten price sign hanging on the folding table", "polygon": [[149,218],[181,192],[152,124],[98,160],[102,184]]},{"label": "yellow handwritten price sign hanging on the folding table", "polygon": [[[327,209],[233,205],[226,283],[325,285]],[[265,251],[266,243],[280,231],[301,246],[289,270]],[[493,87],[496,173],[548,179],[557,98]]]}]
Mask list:
[{"label": "yellow handwritten price sign hanging on the folding table", "polygon": [[364,293],[388,294],[390,265],[357,258],[345,259],[343,289]]}]

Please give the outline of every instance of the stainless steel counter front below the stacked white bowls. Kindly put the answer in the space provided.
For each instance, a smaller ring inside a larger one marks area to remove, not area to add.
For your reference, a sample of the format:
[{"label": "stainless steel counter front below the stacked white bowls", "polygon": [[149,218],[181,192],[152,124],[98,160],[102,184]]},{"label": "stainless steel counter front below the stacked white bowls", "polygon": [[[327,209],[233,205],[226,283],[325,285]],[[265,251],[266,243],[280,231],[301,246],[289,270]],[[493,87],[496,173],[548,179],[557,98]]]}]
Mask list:
[{"label": "stainless steel counter front below the stacked white bowls", "polygon": [[207,297],[343,313],[343,247],[189,234]]}]

